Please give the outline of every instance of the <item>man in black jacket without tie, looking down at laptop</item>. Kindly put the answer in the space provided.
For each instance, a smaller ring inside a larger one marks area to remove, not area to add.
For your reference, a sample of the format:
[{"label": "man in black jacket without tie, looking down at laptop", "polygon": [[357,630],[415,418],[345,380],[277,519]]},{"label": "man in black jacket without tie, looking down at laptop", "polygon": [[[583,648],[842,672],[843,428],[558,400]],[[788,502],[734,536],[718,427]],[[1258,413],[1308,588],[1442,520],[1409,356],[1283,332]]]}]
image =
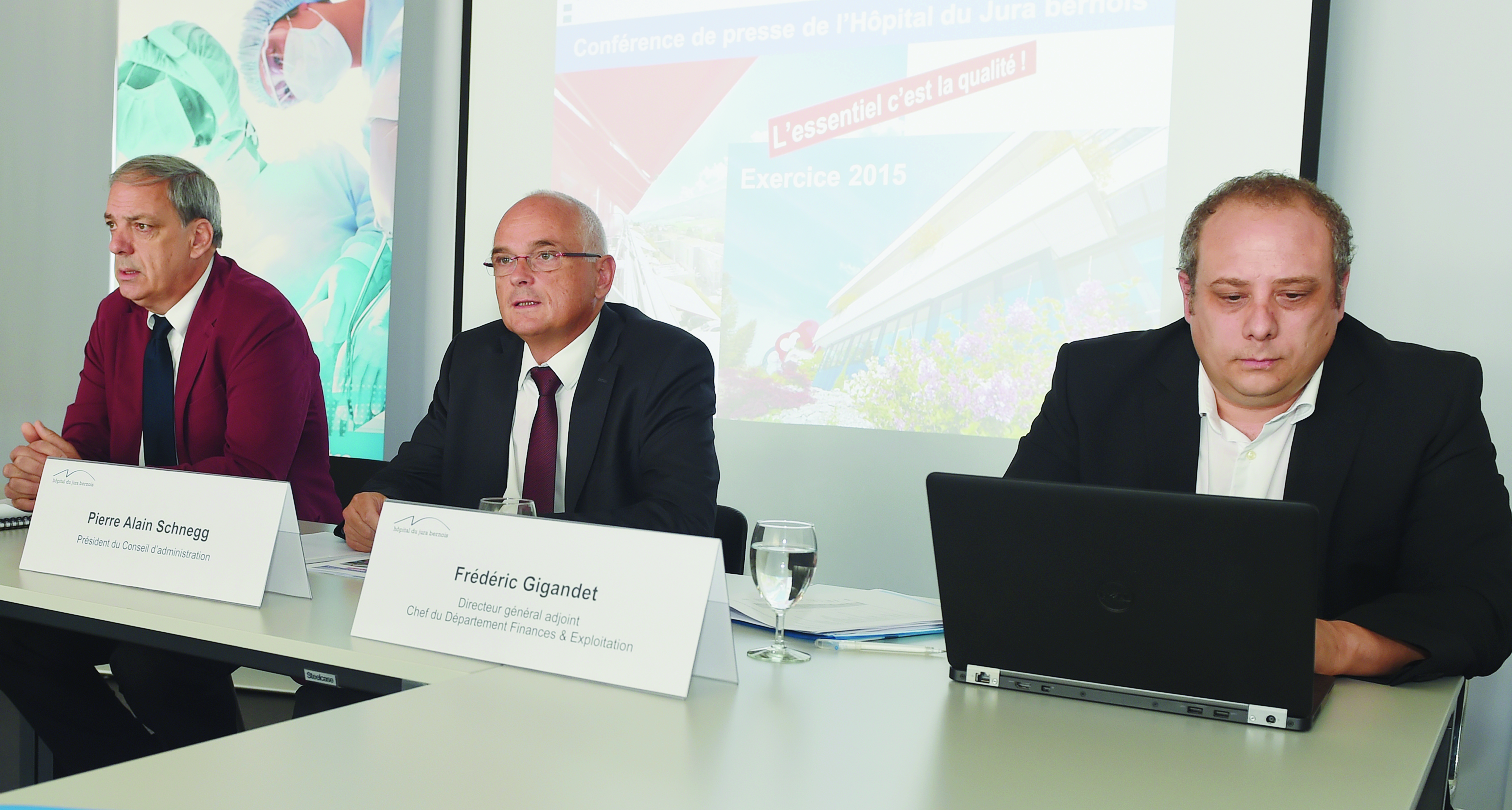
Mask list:
[{"label": "man in black jacket without tie, looking down at laptop", "polygon": [[[1229,494],[1205,488],[1225,429],[1241,449],[1285,441],[1269,497],[1284,485],[1323,518],[1315,669],[1494,672],[1512,650],[1512,511],[1480,364],[1344,316],[1349,219],[1311,183],[1220,186],[1181,254],[1185,319],[1066,345],[1007,475]],[[1223,425],[1201,416],[1207,384]]]}]

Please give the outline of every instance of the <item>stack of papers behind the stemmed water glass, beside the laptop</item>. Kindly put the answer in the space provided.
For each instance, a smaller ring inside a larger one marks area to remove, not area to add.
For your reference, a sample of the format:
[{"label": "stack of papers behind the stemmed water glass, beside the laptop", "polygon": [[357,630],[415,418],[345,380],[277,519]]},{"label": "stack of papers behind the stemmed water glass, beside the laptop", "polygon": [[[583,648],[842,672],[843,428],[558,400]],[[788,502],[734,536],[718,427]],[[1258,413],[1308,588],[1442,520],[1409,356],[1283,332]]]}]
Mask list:
[{"label": "stack of papers behind the stemmed water glass, beside the laptop", "polygon": [[[748,577],[729,577],[730,618],[773,629],[777,614],[756,592]],[[788,609],[785,632],[803,638],[868,639],[922,636],[943,632],[936,600],[892,591],[863,591],[839,585],[810,585]]]}]

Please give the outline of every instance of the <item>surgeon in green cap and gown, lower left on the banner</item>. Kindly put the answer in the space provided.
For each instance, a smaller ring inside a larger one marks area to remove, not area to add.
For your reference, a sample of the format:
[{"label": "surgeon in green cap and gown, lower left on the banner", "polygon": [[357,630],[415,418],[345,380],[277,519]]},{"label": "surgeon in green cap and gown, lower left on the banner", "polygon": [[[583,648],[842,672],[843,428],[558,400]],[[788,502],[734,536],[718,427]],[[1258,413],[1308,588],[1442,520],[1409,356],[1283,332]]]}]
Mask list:
[{"label": "surgeon in green cap and gown, lower left on the banner", "polygon": [[381,452],[381,420],[357,431],[384,411],[392,251],[363,166],[333,142],[265,160],[236,65],[192,23],[153,29],[122,51],[116,151],[187,157],[215,178],[239,234],[234,249],[304,317],[321,360],[331,452]]}]

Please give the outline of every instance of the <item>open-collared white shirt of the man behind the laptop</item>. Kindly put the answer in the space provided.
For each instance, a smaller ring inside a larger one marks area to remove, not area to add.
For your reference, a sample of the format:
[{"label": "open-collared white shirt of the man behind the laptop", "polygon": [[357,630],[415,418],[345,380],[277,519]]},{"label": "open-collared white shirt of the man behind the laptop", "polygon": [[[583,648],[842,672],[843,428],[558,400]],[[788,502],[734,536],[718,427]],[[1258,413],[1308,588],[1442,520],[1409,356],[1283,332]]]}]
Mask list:
[{"label": "open-collared white shirt of the man behind the laptop", "polygon": [[1198,444],[1198,494],[1264,497],[1281,500],[1287,491],[1291,438],[1297,422],[1317,408],[1323,366],[1285,413],[1272,417],[1250,440],[1238,428],[1219,419],[1217,394],[1207,369],[1198,363],[1198,414],[1202,440]]}]

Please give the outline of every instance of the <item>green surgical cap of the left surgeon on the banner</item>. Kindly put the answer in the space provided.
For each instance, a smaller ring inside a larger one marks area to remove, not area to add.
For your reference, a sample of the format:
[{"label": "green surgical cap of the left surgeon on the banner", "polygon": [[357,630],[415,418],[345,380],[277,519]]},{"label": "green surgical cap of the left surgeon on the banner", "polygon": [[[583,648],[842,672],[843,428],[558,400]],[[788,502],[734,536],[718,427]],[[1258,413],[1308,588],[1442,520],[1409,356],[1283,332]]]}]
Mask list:
[{"label": "green surgical cap of the left surgeon on the banner", "polygon": [[234,139],[240,144],[249,136],[236,65],[210,32],[181,21],[159,26],[125,47],[118,83],[125,80],[133,63],[162,71],[204,98],[215,118],[213,141]]}]

